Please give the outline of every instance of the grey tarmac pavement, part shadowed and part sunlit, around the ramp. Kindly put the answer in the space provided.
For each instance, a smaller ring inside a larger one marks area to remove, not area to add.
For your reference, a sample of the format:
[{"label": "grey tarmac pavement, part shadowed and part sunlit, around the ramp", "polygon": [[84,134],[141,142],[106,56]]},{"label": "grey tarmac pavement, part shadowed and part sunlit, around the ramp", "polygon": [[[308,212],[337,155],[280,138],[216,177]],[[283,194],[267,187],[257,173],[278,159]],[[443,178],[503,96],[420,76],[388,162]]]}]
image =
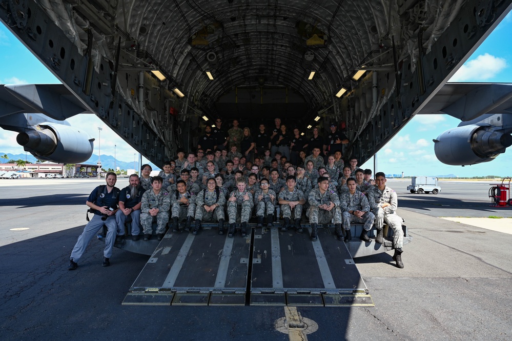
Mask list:
[{"label": "grey tarmac pavement, part shadowed and part sunlit, around the ramp", "polygon": [[[67,270],[85,225],[85,199],[104,181],[42,180],[0,182],[3,340],[292,339],[275,328],[285,316],[282,307],[121,306],[148,256],[114,248],[112,265],[103,268],[104,244],[92,240],[78,269]],[[124,183],[119,179],[118,187]],[[488,207],[485,194],[475,195],[488,185],[460,192],[442,186],[436,197],[397,190],[399,214],[413,235],[404,247],[405,268],[395,267],[391,252],[356,258],[375,308],[297,307],[318,325],[307,339],[510,339],[512,235],[439,218],[499,211]],[[446,201],[452,208],[433,205]],[[499,212],[506,216],[510,209]],[[28,230],[11,230],[20,227]]]}]

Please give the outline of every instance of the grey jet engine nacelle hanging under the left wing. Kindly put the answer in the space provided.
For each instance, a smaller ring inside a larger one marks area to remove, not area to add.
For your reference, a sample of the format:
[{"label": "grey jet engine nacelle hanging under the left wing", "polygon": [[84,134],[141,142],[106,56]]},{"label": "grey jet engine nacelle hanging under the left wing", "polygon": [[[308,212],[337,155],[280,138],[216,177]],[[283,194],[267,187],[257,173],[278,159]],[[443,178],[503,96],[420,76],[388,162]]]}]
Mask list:
[{"label": "grey jet engine nacelle hanging under the left wing", "polygon": [[86,132],[55,123],[42,123],[16,136],[16,142],[35,157],[64,164],[87,161],[93,141]]}]

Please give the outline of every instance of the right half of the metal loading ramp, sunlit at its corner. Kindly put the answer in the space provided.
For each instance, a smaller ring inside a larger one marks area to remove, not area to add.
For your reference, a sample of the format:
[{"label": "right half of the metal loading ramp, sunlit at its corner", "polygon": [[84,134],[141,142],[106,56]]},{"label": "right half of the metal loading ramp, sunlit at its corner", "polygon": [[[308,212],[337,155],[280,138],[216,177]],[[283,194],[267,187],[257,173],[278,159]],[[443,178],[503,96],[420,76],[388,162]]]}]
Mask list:
[{"label": "right half of the metal loading ramp, sunlit at its corner", "polygon": [[[297,234],[255,229],[251,305],[374,306],[345,243],[333,228]],[[364,299],[362,299],[364,297]],[[283,299],[284,298],[284,299]]]}]

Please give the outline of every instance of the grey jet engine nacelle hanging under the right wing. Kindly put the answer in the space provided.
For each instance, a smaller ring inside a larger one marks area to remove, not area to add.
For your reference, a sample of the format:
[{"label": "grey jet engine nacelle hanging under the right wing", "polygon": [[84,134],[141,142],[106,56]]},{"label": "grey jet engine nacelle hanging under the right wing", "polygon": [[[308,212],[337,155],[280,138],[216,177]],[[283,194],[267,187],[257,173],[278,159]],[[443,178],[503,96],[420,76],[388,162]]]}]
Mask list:
[{"label": "grey jet engine nacelle hanging under the right wing", "polygon": [[512,145],[512,136],[487,126],[467,125],[445,131],[434,143],[443,164],[465,166],[493,160]]}]

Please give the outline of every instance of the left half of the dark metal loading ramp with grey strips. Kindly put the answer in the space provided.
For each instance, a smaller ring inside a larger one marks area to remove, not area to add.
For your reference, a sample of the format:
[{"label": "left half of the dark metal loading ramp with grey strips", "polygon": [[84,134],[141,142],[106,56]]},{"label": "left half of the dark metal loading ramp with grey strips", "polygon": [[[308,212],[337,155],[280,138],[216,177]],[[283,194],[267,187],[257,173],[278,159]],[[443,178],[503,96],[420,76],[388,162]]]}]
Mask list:
[{"label": "left half of the dark metal loading ramp with grey strips", "polygon": [[122,304],[243,306],[250,240],[218,235],[217,229],[169,231]]}]

